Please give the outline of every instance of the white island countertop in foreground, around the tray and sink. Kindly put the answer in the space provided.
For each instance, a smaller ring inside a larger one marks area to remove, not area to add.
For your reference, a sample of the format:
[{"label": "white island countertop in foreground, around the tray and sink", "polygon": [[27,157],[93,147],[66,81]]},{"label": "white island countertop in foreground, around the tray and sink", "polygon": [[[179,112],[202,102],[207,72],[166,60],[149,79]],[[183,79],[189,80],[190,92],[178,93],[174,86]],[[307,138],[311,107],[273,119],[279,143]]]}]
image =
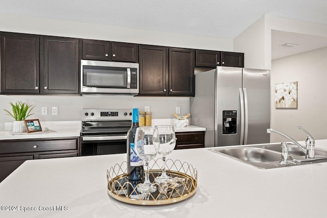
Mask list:
[{"label": "white island countertop in foreground, around the tray and sink", "polygon": [[[316,146],[327,148],[327,140]],[[141,206],[109,197],[106,170],[125,154],[28,160],[0,183],[0,205],[18,206],[0,216],[327,217],[327,163],[258,169],[207,148],[174,150],[168,158],[198,170],[196,193],[182,202]],[[56,206],[67,210],[41,210]]]}]

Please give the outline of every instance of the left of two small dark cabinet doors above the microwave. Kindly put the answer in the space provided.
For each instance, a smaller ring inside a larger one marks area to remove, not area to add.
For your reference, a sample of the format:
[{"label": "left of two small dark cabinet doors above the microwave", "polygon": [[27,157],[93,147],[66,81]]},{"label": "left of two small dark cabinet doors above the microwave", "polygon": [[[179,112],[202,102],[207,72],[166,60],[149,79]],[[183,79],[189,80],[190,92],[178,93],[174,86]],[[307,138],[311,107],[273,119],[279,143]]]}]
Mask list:
[{"label": "left of two small dark cabinet doors above the microwave", "polygon": [[83,59],[109,60],[109,42],[83,39]]}]

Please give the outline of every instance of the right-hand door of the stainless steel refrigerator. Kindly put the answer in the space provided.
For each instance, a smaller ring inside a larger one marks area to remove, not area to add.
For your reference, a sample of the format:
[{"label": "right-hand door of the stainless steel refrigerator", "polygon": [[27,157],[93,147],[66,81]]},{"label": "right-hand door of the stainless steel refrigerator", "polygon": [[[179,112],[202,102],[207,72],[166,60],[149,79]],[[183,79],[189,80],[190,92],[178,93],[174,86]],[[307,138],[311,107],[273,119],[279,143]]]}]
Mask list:
[{"label": "right-hand door of the stainless steel refrigerator", "polygon": [[269,143],[270,71],[243,69],[244,144]]}]

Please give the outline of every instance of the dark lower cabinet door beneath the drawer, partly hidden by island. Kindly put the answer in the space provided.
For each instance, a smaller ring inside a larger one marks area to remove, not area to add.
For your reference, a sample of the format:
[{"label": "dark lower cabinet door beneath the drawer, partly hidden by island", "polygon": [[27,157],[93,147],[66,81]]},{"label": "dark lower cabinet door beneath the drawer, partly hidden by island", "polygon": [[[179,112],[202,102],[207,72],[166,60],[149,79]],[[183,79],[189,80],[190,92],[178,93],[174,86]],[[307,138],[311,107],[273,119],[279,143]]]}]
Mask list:
[{"label": "dark lower cabinet door beneath the drawer, partly hidden by island", "polygon": [[26,160],[33,160],[33,155],[0,157],[0,182]]}]

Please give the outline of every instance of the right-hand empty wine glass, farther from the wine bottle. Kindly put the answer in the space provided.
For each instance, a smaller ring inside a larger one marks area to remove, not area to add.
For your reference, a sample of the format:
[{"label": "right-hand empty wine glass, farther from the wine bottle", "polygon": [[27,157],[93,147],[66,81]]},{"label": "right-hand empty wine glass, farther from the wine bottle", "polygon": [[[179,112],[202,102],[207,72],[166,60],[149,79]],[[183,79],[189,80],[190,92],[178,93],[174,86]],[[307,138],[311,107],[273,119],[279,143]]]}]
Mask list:
[{"label": "right-hand empty wine glass, farther from the wine bottle", "polygon": [[153,135],[153,141],[156,145],[158,154],[162,157],[162,172],[160,177],[156,177],[154,181],[158,184],[173,181],[173,178],[166,174],[166,156],[175,148],[176,136],[174,126],[157,125]]}]

